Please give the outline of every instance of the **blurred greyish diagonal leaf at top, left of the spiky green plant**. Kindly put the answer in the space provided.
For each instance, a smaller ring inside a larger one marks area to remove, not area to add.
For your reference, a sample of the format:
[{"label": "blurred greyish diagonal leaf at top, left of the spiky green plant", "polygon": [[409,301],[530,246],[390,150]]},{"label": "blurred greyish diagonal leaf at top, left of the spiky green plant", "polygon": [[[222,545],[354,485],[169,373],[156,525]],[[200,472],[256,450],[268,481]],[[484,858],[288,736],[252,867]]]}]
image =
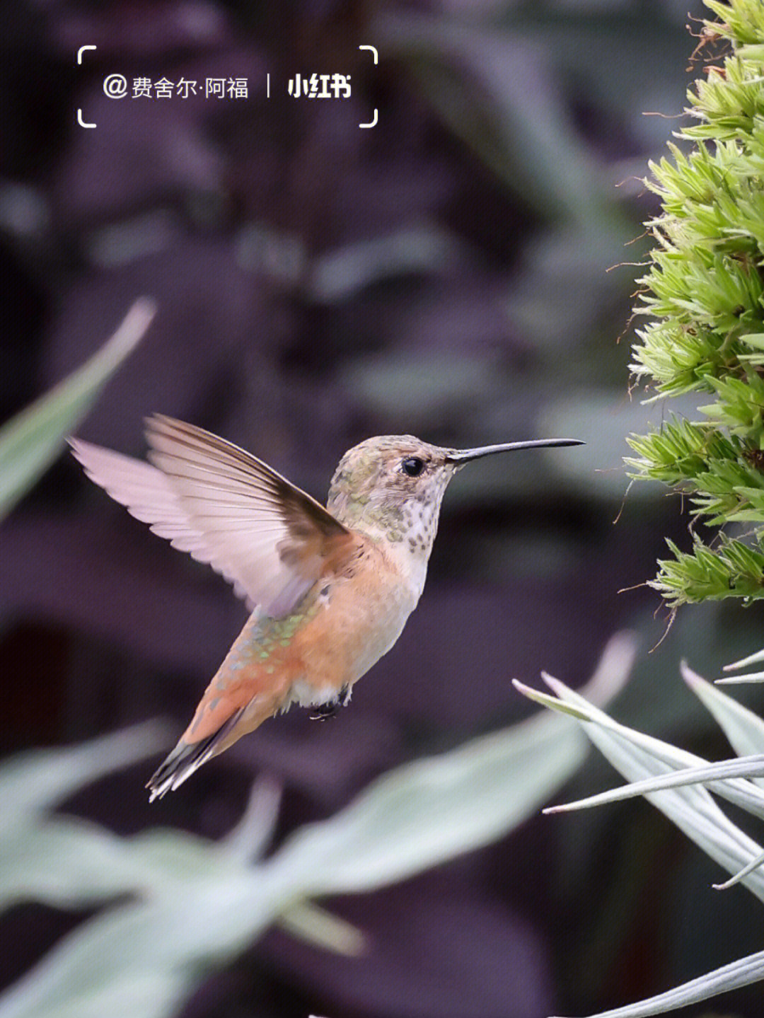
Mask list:
[{"label": "blurred greyish diagonal leaf at top, left of the spiky green plant", "polygon": [[577,135],[542,47],[410,12],[378,18],[374,31],[410,60],[454,133],[525,201],[574,223],[599,218],[604,180]]}]

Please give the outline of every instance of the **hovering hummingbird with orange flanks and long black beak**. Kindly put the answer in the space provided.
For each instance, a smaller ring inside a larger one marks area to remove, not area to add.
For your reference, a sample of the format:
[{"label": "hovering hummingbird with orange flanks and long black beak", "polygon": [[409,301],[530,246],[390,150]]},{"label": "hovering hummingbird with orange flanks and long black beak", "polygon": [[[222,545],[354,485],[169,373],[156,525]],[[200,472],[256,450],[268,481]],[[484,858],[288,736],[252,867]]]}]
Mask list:
[{"label": "hovering hummingbird with orange flanks and long black beak", "polygon": [[325,719],[395,644],[424,587],[440,503],[466,463],[582,445],[539,439],[446,449],[366,439],[340,460],[326,508],[262,460],[193,425],[146,418],[149,462],[70,439],[86,475],[154,533],[221,573],[250,615],[150,801],[293,703]]}]

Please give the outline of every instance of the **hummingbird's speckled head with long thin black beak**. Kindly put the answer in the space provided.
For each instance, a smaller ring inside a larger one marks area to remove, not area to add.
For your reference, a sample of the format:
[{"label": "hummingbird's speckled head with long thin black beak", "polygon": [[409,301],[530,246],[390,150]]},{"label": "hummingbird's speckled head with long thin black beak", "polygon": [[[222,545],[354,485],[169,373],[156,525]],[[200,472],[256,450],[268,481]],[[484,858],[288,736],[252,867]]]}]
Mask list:
[{"label": "hummingbird's speckled head with long thin black beak", "polygon": [[444,492],[466,463],[513,449],[580,444],[576,439],[542,439],[445,449],[411,435],[366,439],[340,460],[327,507],[346,526],[378,540],[405,543],[426,561]]}]

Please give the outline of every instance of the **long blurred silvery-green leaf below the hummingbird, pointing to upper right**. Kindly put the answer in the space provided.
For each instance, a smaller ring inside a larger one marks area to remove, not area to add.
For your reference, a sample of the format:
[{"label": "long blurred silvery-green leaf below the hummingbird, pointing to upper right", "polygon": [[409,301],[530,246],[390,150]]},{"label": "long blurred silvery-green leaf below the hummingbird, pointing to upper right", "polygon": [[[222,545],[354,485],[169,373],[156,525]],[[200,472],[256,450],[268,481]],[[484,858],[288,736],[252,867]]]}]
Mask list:
[{"label": "long blurred silvery-green leaf below the hummingbird, pointing to upper right", "polygon": [[[589,689],[623,686],[634,642],[622,635]],[[553,721],[553,724],[550,722]],[[332,819],[298,831],[272,860],[306,895],[371,891],[502,837],[578,768],[578,728],[541,715],[416,760],[373,782]]]}]

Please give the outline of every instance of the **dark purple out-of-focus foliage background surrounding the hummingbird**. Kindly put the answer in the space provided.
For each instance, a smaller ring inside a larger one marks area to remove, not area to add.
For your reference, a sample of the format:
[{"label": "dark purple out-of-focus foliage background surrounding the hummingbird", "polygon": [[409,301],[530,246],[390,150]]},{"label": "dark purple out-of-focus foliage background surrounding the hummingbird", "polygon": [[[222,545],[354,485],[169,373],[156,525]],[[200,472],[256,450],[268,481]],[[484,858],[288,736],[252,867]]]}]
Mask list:
[{"label": "dark purple out-of-focus foliage background surrounding the hummingbird", "polygon": [[[142,454],[157,410],[324,498],[341,454],[370,435],[587,442],[460,475],[421,605],[337,721],[292,711],[151,810],[151,764],[67,809],[123,834],[168,824],[215,838],[266,771],[285,785],[281,837],[396,764],[527,715],[512,677],[535,684],[543,668],[579,685],[621,627],[640,630],[642,652],[619,717],[725,752],[678,663],[713,678],[760,645],[760,610],[685,610],[648,656],[665,612],[644,586],[619,592],[653,575],[665,535],[688,542],[677,500],[644,486],[624,501],[621,463],[625,436],[662,412],[627,392],[640,270],[622,264],[644,258],[657,207],[639,178],[677,126],[644,113],[680,113],[702,73],[688,6],[701,15],[697,0],[7,5],[0,419],[146,294],[154,325],[81,429],[122,452]],[[84,44],[98,49],[77,66]],[[205,99],[202,83],[195,98],[110,100],[113,72],[245,77],[248,98]],[[294,99],[298,72],[350,74],[351,98]],[[377,125],[359,128],[374,109]],[[3,751],[156,715],[179,733],[244,619],[223,580],[63,457],[0,529]],[[614,782],[593,760],[560,798]],[[753,900],[711,892],[718,876],[644,803],[539,818],[333,902],[370,932],[365,958],[274,932],[182,1014],[601,1010],[757,948]],[[3,983],[81,918],[14,909]],[[760,1014],[758,991],[720,1010]]]}]

